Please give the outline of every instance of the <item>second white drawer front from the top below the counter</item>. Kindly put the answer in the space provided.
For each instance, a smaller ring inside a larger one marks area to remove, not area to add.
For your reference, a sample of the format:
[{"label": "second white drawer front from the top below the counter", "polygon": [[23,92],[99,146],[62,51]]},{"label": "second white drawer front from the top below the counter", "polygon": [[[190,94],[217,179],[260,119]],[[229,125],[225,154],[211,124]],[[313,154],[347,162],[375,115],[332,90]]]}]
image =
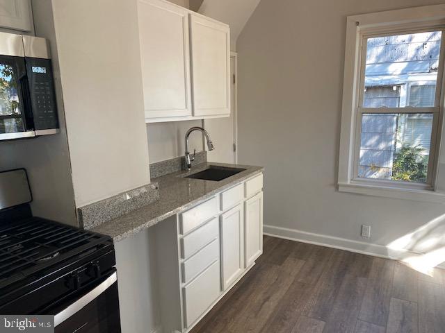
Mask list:
[{"label": "second white drawer front from the top below the counter", "polygon": [[191,234],[181,238],[182,259],[187,259],[193,255],[193,253],[196,253],[197,250],[200,250],[213,241],[213,239],[219,239],[219,223],[217,217],[191,232]]}]

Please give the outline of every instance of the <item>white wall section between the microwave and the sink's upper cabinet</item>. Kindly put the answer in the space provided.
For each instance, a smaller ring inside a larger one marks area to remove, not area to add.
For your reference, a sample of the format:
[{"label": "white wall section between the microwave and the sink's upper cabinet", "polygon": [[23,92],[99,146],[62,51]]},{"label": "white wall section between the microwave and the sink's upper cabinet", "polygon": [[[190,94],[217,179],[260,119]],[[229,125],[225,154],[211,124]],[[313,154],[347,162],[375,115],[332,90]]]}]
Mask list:
[{"label": "white wall section between the microwave and the sink's upper cabinet", "polygon": [[52,1],[76,206],[150,181],[136,0]]}]

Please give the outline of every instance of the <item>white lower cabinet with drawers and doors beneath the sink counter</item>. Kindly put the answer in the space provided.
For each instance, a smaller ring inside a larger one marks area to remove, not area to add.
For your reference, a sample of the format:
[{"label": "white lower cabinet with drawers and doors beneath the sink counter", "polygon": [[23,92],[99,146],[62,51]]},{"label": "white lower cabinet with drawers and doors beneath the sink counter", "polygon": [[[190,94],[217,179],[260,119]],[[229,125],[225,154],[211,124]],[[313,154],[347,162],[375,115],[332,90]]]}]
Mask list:
[{"label": "white lower cabinet with drawers and doors beneath the sink counter", "polygon": [[189,332],[263,252],[262,174],[158,223],[163,332]]}]

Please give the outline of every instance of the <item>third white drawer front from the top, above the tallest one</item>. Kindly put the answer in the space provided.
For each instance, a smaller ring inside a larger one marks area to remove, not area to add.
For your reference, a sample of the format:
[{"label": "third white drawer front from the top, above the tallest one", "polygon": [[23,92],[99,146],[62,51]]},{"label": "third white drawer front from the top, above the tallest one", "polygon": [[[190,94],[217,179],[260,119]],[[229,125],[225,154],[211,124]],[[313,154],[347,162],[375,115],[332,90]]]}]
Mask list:
[{"label": "third white drawer front from the top, above the tallest one", "polygon": [[215,239],[211,244],[205,246],[200,252],[193,255],[181,264],[182,266],[182,283],[188,283],[196,275],[204,271],[212,262],[220,257],[220,243]]}]

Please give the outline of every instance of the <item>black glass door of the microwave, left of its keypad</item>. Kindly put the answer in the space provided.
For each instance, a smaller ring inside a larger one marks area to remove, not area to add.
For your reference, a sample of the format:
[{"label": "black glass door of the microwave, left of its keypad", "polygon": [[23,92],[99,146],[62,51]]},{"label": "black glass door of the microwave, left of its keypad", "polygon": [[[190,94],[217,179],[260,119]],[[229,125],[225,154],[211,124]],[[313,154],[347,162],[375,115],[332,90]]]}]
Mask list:
[{"label": "black glass door of the microwave, left of its keypad", "polygon": [[22,57],[0,56],[0,139],[35,136],[26,65]]}]

